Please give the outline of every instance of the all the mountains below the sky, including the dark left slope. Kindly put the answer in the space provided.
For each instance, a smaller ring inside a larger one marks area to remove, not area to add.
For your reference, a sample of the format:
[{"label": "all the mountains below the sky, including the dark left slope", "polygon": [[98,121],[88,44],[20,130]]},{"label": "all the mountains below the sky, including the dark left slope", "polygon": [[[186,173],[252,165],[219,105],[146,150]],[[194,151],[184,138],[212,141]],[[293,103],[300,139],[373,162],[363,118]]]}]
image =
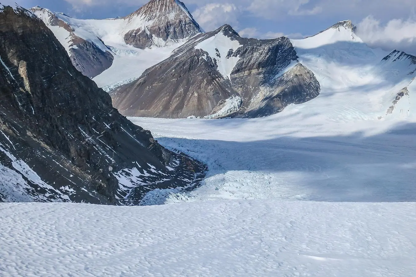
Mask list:
[{"label": "all the mountains below the sky, including the dark left slope", "polygon": [[369,48],[348,20],[258,40],[204,32],[177,0],[106,20],[0,5],[0,201],[137,205],[193,188],[205,166],[124,116],[260,117],[342,94],[368,111],[339,113],[352,119],[407,118],[415,72],[416,57]]}]

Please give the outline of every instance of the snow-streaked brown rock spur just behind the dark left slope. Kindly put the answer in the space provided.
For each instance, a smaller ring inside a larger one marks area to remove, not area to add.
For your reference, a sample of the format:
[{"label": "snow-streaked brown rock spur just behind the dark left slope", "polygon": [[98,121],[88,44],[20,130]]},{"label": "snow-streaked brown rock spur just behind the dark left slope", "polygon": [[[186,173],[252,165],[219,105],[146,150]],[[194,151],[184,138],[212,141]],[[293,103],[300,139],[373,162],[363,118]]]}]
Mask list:
[{"label": "snow-streaked brown rock spur just behind the dark left slope", "polygon": [[[114,56],[109,49],[106,49],[104,42],[99,41],[99,46],[89,40],[75,35],[72,26],[59,19],[50,10],[42,7],[33,7],[30,9],[35,15],[41,18],[47,26],[50,26],[52,30],[57,32],[57,37],[63,37],[65,41],[62,45],[67,50],[69,58],[82,74],[87,77],[93,78],[104,70],[111,67]],[[64,35],[61,35],[64,33]]]}]

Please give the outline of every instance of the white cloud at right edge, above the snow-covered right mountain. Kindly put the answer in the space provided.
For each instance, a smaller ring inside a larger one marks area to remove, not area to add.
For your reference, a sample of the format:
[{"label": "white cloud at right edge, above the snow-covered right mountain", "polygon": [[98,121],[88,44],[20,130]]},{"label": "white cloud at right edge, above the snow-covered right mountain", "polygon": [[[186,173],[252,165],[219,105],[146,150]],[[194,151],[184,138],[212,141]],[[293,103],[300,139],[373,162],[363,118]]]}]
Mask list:
[{"label": "white cloud at right edge, above the snow-covered right mountain", "polygon": [[371,47],[416,54],[416,21],[393,19],[386,24],[369,16],[357,25],[357,35]]}]

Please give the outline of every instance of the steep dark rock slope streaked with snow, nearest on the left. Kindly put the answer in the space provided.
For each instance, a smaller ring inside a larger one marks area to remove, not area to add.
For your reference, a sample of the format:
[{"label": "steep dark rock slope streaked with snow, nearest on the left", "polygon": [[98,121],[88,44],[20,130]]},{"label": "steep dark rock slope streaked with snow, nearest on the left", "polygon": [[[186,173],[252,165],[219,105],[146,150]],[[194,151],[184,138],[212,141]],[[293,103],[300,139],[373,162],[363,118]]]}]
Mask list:
[{"label": "steep dark rock slope streaked with snow, nearest on the left", "polygon": [[203,164],[121,116],[21,7],[0,5],[0,96],[0,201],[137,205],[203,177]]}]

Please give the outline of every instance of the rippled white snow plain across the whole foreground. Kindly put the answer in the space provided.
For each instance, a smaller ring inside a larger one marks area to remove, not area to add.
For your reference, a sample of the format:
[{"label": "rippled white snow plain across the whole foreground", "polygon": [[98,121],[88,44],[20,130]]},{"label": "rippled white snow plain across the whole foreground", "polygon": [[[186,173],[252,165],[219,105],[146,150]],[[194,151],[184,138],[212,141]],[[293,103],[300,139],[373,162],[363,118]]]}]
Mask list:
[{"label": "rippled white snow plain across the whole foreground", "polygon": [[415,203],[0,204],[1,276],[414,276]]}]

